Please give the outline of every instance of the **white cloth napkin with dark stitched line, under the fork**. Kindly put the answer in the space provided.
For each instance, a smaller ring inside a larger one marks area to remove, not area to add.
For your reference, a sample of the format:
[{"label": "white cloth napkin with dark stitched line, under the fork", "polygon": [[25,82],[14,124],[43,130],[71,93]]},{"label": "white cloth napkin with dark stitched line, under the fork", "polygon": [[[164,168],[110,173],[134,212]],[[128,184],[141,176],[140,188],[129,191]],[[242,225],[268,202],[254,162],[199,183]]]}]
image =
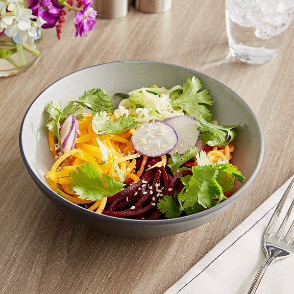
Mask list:
[{"label": "white cloth napkin with dark stitched line, under the fork", "polygon": [[[265,253],[262,237],[292,177],[165,294],[246,294]],[[294,194],[294,189],[290,192]],[[294,256],[273,262],[257,294],[294,293]]]}]

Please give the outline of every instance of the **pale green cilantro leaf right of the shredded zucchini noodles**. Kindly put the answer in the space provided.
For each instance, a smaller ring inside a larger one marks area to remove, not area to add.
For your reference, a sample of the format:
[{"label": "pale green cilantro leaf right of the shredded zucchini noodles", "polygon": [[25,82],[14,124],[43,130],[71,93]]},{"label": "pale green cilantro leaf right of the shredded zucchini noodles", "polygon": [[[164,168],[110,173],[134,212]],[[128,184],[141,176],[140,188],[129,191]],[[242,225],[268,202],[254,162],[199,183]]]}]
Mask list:
[{"label": "pale green cilantro leaf right of the shredded zucchini noodles", "polygon": [[172,106],[182,108],[196,120],[203,117],[205,120],[210,121],[212,114],[205,104],[212,105],[212,97],[207,89],[201,90],[201,88],[202,84],[199,78],[195,76],[188,78],[186,84],[183,85],[182,95],[172,101]]}]

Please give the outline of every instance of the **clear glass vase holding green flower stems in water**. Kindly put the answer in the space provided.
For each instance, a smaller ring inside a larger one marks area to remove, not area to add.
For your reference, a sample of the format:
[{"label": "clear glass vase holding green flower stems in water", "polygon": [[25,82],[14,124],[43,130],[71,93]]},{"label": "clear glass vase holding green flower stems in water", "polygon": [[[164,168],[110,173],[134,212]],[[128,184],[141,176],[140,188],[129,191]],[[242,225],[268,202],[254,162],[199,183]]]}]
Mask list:
[{"label": "clear glass vase holding green flower stems in water", "polygon": [[23,73],[34,65],[39,57],[38,42],[25,41],[19,44],[0,34],[0,77]]}]

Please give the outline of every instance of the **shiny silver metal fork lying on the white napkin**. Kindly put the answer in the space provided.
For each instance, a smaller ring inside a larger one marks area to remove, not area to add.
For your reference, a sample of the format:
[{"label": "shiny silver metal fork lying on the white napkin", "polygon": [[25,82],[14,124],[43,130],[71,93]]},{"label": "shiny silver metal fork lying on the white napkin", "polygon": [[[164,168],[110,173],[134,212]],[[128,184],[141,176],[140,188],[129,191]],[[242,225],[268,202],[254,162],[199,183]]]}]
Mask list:
[{"label": "shiny silver metal fork lying on the white napkin", "polygon": [[[256,276],[247,294],[254,294],[256,292],[262,277],[273,261],[289,257],[294,252],[294,221],[286,232],[286,227],[289,226],[288,220],[294,207],[294,199],[281,223],[281,211],[286,203],[290,190],[294,187],[293,185],[294,178],[283,194],[266,228],[263,236],[263,249],[266,253],[266,258],[256,273]],[[281,225],[277,228],[278,223],[281,223]]]}]

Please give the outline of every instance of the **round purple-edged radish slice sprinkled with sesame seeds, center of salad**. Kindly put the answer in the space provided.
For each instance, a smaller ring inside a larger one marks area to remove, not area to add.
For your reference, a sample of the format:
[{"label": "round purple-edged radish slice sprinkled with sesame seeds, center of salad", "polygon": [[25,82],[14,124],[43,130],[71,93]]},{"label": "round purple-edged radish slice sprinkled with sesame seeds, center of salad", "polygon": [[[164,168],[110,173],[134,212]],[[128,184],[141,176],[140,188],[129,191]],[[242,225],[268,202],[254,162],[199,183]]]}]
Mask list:
[{"label": "round purple-edged radish slice sprinkled with sesame seeds, center of salad", "polygon": [[176,146],[177,134],[167,123],[154,121],[136,128],[131,141],[140,154],[156,157],[167,154]]}]

